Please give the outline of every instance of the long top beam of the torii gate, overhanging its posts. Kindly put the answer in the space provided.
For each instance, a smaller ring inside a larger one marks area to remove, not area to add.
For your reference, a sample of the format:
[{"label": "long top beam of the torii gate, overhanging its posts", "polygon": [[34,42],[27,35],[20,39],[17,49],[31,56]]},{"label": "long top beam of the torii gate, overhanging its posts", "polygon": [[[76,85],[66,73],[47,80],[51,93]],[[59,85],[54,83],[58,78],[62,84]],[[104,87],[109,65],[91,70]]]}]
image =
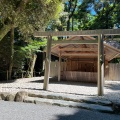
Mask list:
[{"label": "long top beam of the torii gate, overhanging its posts", "polygon": [[104,35],[120,35],[120,29],[100,29],[100,30],[81,30],[81,31],[46,31],[39,32],[35,31],[35,37],[45,36],[98,36],[99,34]]}]

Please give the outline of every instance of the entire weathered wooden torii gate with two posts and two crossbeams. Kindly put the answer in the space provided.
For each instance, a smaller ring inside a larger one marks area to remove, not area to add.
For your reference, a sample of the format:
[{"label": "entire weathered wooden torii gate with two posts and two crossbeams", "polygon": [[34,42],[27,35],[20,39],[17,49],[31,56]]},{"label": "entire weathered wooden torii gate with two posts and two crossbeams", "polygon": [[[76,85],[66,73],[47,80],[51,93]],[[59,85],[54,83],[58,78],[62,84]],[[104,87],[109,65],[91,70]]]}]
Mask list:
[{"label": "entire weathered wooden torii gate with two posts and two crossbeams", "polygon": [[[84,31],[58,31],[58,32],[35,32],[35,37],[47,37],[47,49],[45,59],[45,77],[44,90],[48,90],[50,62],[51,62],[51,45],[52,44],[98,44],[98,96],[104,95],[104,46],[103,38],[107,35],[120,35],[120,29],[101,29],[101,30],[84,30]],[[96,36],[96,40],[74,40],[74,41],[52,41],[52,36]],[[60,79],[60,78],[59,78]]]}]

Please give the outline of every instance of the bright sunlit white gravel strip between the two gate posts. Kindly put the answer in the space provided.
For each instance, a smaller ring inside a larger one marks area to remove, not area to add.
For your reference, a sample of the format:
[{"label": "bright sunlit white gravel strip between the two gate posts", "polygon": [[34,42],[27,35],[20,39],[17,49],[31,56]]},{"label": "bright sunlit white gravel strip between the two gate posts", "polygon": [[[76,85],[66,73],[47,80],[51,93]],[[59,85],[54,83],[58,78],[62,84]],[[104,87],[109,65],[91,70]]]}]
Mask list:
[{"label": "bright sunlit white gravel strip between the two gate posts", "polygon": [[[96,95],[97,87],[95,84],[81,83],[81,82],[59,82],[61,84],[50,84],[49,90],[54,92],[73,93],[81,95]],[[67,84],[68,83],[68,84]],[[71,83],[71,84],[70,84]],[[75,84],[76,83],[76,84]],[[81,83],[81,84],[80,84]]]}]

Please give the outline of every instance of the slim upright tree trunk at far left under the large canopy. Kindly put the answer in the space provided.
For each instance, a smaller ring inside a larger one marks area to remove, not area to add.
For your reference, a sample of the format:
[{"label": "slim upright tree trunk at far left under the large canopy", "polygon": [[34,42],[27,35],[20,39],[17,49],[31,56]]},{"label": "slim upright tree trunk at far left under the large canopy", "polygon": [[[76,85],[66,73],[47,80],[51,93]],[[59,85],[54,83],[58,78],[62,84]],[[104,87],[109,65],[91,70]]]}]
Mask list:
[{"label": "slim upright tree trunk at far left under the large canopy", "polygon": [[11,79],[11,76],[12,76],[13,57],[14,57],[14,24],[11,25],[11,31],[10,31],[9,80]]}]

